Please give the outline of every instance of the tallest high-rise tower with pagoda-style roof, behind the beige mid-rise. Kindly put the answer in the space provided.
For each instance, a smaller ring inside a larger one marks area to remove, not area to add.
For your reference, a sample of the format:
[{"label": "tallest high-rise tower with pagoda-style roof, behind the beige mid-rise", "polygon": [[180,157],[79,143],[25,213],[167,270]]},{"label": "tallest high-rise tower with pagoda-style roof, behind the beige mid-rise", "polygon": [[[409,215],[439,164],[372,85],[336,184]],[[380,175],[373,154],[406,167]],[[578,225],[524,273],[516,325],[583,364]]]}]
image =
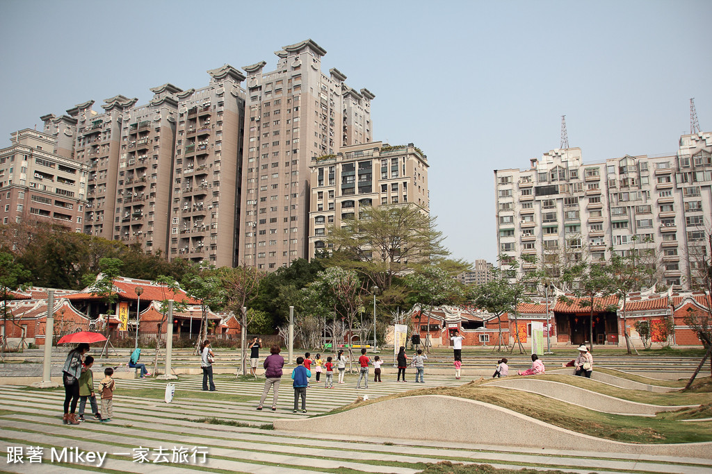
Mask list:
[{"label": "tallest high-rise tower with pagoda-style roof, behind the beige mid-rise", "polygon": [[321,71],[326,54],[311,40],[276,52],[277,68],[264,61],[247,72],[245,147],[239,264],[271,270],[308,256],[310,163],[342,146],[372,141],[366,89],[346,76]]}]

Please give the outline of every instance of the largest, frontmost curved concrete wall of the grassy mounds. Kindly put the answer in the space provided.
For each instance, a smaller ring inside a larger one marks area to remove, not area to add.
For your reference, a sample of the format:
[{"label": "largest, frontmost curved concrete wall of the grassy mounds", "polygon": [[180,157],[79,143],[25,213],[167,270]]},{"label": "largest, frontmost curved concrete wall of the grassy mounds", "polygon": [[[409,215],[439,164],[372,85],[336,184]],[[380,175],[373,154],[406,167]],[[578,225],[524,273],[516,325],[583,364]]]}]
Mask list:
[{"label": "largest, frontmost curved concrete wall of the grassy mounds", "polygon": [[[451,416],[443,416],[447,414]],[[424,430],[423,419],[435,422]],[[334,435],[346,431],[355,436],[383,438],[418,433],[421,439],[455,443],[566,450],[580,446],[581,451],[712,459],[712,442],[655,445],[609,441],[559,428],[501,406],[444,395],[404,397],[333,415],[275,420],[274,428]]]}]

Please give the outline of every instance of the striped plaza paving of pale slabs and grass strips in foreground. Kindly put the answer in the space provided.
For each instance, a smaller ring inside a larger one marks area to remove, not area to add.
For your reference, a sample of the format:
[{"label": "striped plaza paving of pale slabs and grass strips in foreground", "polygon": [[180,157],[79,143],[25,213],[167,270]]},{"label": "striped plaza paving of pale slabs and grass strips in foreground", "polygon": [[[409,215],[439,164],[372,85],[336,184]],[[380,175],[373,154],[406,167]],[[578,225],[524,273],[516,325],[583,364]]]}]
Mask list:
[{"label": "striped plaza paving of pale slabs and grass strips in foreground", "polygon": [[[287,372],[288,373],[288,372]],[[202,377],[182,376],[176,382],[177,399],[166,404],[159,397],[145,397],[146,388],[161,388],[157,380],[117,380],[114,399],[115,418],[108,424],[86,421],[80,426],[61,423],[64,393],[58,390],[0,387],[0,443],[5,457],[0,471],[13,473],[68,473],[78,470],[103,470],[128,473],[306,473],[365,472],[417,473],[426,463],[449,460],[453,463],[488,463],[497,468],[525,467],[556,469],[573,473],[646,472],[646,473],[709,473],[710,461],[667,456],[590,453],[576,448],[556,451],[540,448],[503,448],[484,446],[476,439],[462,443],[424,441],[418,432],[402,433],[400,438],[356,437],[349,426],[340,426],[340,434],[298,433],[271,429],[275,419],[295,419],[323,414],[338,406],[354,402],[360,395],[382,397],[394,392],[422,387],[456,386],[471,377],[433,375],[424,384],[398,383],[394,377],[384,382],[371,382],[369,389],[356,390],[354,376],[334,389],[315,386],[308,389],[307,414],[292,413],[293,390],[289,376],[283,377],[278,410],[271,411],[271,394],[263,411],[256,411],[262,382],[236,382],[234,376],[216,376],[216,399],[201,392]],[[241,396],[241,397],[236,397]],[[239,401],[224,402],[217,397],[233,397]],[[403,403],[408,403],[404,400]],[[89,406],[87,406],[90,411]],[[413,413],[414,417],[419,416]],[[423,420],[429,424],[447,423],[449,416],[466,414],[444,413],[442,419]],[[209,424],[201,420],[216,417],[231,424]],[[389,423],[389,413],[382,414]],[[492,427],[496,429],[496,426]],[[29,449],[28,447],[32,447]],[[39,463],[39,450],[42,461]],[[23,448],[23,463],[16,462],[18,448]],[[70,448],[63,451],[63,448]],[[96,451],[108,453],[100,468],[99,461],[83,464],[68,462],[70,453]],[[12,453],[11,453],[12,452]],[[58,459],[58,456],[63,456]],[[144,456],[142,458],[142,456]],[[54,458],[53,458],[54,457]],[[205,462],[202,459],[205,457]],[[143,462],[140,462],[140,461]],[[34,462],[31,462],[34,461]]]}]

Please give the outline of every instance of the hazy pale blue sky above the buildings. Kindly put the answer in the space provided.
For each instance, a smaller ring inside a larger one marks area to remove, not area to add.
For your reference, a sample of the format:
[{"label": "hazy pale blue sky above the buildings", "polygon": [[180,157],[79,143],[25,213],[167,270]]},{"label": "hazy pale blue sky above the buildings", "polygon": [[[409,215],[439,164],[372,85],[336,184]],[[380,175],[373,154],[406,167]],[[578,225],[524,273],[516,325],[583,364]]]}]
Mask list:
[{"label": "hazy pale blue sky above the buildings", "polygon": [[494,169],[569,144],[592,163],[674,153],[694,97],[712,130],[712,1],[0,3],[0,147],[44,114],[241,68],[311,38],[366,87],[373,139],[426,153],[451,257],[496,262]]}]

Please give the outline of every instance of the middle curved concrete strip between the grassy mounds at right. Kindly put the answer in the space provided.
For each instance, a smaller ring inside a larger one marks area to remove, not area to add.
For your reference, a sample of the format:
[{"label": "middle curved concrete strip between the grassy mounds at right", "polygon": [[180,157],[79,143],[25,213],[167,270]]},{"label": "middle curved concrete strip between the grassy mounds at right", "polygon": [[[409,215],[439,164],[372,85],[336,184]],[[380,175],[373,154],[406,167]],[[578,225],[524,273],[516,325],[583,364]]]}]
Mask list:
[{"label": "middle curved concrete strip between the grassy mounds at right", "polygon": [[658,411],[674,411],[697,405],[663,406],[630,402],[629,400],[611,397],[591,390],[582,389],[562,382],[533,379],[530,377],[506,377],[496,379],[487,385],[496,385],[508,389],[522,390],[544,395],[561,402],[584,406],[596,411],[624,415],[654,415]]}]

